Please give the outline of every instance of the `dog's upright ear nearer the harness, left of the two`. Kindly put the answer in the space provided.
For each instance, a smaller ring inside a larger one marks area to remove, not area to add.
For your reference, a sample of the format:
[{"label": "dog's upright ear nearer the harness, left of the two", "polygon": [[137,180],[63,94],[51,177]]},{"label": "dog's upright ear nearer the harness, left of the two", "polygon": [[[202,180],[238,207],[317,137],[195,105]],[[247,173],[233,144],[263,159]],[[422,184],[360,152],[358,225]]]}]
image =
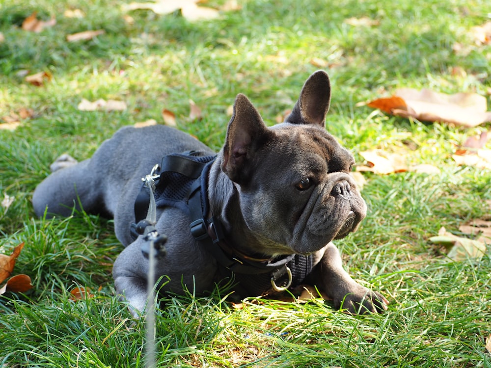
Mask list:
[{"label": "dog's upright ear nearer the harness, left of the two", "polygon": [[270,134],[256,108],[245,95],[238,94],[223,146],[222,171],[233,182],[243,184],[251,159]]}]

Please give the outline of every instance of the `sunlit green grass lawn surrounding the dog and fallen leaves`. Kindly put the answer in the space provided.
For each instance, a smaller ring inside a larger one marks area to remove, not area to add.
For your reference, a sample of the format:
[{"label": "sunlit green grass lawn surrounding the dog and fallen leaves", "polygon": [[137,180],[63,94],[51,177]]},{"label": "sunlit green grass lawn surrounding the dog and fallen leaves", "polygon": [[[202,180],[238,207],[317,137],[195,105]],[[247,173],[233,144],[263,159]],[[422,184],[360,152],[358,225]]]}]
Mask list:
[{"label": "sunlit green grass lawn surrounding the dog and fallen leaves", "polygon": [[[129,2],[129,1],[128,1]],[[208,6],[220,6],[210,0]],[[0,117],[35,112],[15,131],[0,130],[0,250],[25,242],[14,273],[34,288],[0,297],[2,367],[143,367],[143,321],[114,295],[111,264],[122,246],[112,222],[84,213],[37,219],[30,198],[60,154],[88,158],[118,128],[173,111],[179,129],[218,149],[235,95],[245,93],[265,121],[291,108],[313,57],[329,63],[333,95],[327,129],[359,152],[406,149],[410,163],[432,163],[440,175],[366,175],[369,207],[360,230],[337,241],[350,273],[389,300],[381,315],[352,316],[329,302],[247,299],[234,308],[228,289],[202,297],[168,297],[157,311],[160,367],[491,367],[491,258],[448,263],[428,238],[441,226],[488,215],[491,172],[459,167],[451,155],[459,129],[387,117],[367,101],[398,87],[477,92],[488,98],[490,46],[472,46],[469,30],[489,17],[479,0],[244,0],[218,20],[187,22],[179,12],[130,13],[120,1],[39,0],[0,4]],[[66,9],[85,17],[66,18]],[[20,28],[33,11],[56,26]],[[344,20],[368,16],[378,26]],[[105,29],[96,39],[66,35]],[[452,51],[470,45],[467,55]],[[461,67],[465,76],[452,75]],[[46,71],[44,86],[22,76]],[[385,90],[385,92],[383,92]],[[382,91],[382,92],[381,92]],[[84,112],[82,98],[125,101],[123,112]],[[189,99],[203,110],[189,119]],[[408,147],[412,147],[409,150]],[[491,148],[491,143],[487,144]],[[488,247],[488,250],[490,248]],[[88,287],[94,297],[72,301]],[[100,288],[100,289],[99,289]]]}]

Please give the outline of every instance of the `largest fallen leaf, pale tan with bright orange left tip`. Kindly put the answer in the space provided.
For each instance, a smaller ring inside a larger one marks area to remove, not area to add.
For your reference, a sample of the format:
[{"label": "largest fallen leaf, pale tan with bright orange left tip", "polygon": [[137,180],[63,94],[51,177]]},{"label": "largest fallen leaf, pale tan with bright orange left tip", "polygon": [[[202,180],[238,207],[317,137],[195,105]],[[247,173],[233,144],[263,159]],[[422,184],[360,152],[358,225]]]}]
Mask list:
[{"label": "largest fallen leaf, pale tan with bright orange left tip", "polygon": [[486,97],[475,93],[447,95],[429,89],[418,91],[401,88],[396,90],[394,96],[374,100],[367,105],[396,116],[447,122],[464,127],[475,127],[491,121]]}]

